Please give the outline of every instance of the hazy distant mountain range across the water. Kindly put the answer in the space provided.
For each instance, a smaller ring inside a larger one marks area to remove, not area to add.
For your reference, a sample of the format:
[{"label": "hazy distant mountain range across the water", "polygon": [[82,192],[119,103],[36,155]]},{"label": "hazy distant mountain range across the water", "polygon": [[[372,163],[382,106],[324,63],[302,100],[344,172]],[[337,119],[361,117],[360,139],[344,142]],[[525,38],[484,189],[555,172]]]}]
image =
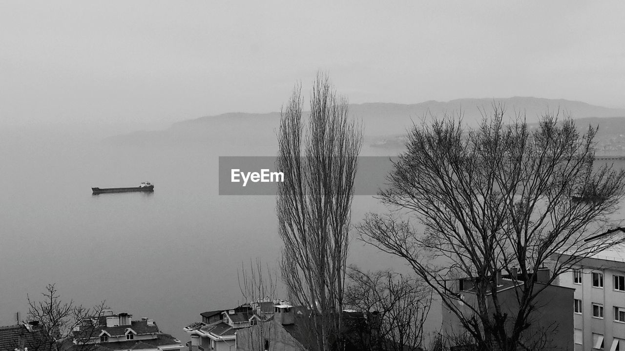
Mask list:
[{"label": "hazy distant mountain range across the water", "polygon": [[[364,126],[366,142],[373,147],[394,144],[410,129],[413,122],[422,118],[462,116],[469,127],[476,127],[482,119],[492,113],[492,106],[501,104],[506,116],[512,121],[517,114],[534,123],[547,111],[570,115],[580,126],[599,124],[602,137],[625,134],[625,109],[611,109],[593,106],[580,101],[541,99],[536,97],[509,97],[505,99],[457,99],[448,102],[426,101],[419,104],[366,103],[351,104],[349,113]],[[614,117],[614,118],[608,118]],[[217,116],[206,116],[173,124],[169,129],[153,132],[134,132],[109,137],[109,144],[171,144],[179,142],[210,141],[259,145],[271,147],[276,144],[276,130],[279,112],[266,114],[232,112]],[[400,142],[401,144],[401,142]]]}]

